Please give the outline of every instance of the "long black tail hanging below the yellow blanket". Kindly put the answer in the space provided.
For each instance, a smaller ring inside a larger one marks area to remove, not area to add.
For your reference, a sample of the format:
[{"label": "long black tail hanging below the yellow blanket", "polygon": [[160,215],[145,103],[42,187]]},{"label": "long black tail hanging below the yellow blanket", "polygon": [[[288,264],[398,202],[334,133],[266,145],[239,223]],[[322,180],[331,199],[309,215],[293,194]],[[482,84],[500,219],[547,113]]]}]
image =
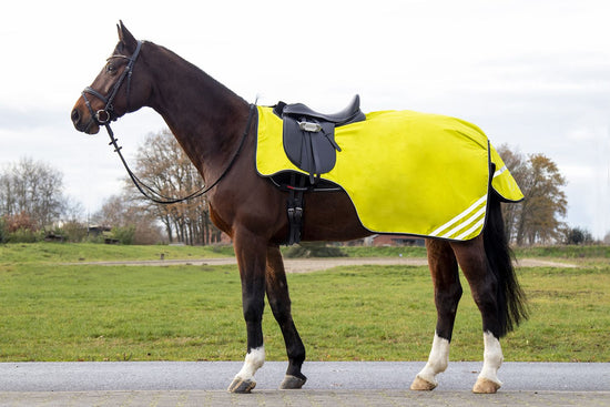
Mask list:
[{"label": "long black tail hanging below the yellow blanket", "polygon": [[506,241],[500,201],[494,190],[489,193],[488,217],[484,231],[485,254],[498,281],[498,318],[500,337],[516,328],[528,317],[523,294],[515,268],[512,252]]}]

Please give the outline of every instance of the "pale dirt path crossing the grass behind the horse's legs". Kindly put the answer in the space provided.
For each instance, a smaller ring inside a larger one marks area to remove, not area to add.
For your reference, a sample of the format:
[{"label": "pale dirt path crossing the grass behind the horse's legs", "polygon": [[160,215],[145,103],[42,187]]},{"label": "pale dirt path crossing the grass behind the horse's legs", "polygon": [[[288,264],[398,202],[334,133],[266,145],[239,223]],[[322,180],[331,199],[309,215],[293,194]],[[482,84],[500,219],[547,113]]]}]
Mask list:
[{"label": "pale dirt path crossing the grass behind the horse's legs", "polygon": [[[163,260],[163,261],[128,261],[128,262],[81,262],[74,264],[94,264],[103,266],[171,266],[171,265],[209,265],[220,266],[236,264],[234,257],[223,258],[199,258],[199,260]],[[284,265],[287,273],[309,273],[328,269],[337,266],[360,266],[360,265],[403,265],[403,266],[427,266],[428,261],[420,257],[332,257],[332,258],[285,258]],[[517,267],[578,267],[575,264],[546,261],[538,258],[521,258],[516,263]]]}]

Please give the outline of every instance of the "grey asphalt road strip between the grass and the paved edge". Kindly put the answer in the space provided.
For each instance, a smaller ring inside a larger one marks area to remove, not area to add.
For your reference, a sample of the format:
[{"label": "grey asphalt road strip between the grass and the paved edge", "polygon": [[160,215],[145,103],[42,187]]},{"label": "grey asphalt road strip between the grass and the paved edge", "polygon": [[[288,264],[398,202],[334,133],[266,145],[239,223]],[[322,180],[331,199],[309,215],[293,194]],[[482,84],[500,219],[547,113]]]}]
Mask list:
[{"label": "grey asphalt road strip between the grass and the paved edge", "polygon": [[[0,391],[225,390],[240,362],[2,363]],[[256,390],[274,390],[287,364],[267,362]],[[420,362],[308,362],[304,389],[408,389]],[[469,391],[481,363],[450,363],[437,390]],[[501,391],[610,391],[610,364],[505,363]],[[609,400],[610,405],[610,400]]]}]

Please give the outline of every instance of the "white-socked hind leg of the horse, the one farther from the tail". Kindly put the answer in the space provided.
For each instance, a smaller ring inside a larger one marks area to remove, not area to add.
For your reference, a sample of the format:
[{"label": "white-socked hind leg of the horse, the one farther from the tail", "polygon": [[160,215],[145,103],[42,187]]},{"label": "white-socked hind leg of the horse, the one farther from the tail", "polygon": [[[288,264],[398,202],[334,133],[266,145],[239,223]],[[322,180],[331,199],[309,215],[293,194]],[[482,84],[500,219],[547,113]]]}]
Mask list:
[{"label": "white-socked hind leg of the horse, the one farther from the tail", "polygon": [[451,342],[457,306],[461,297],[456,256],[449,243],[427,240],[426,247],[435,289],[437,323],[428,363],[417,374],[411,384],[411,390],[434,389],[437,386],[436,375],[447,368],[449,343]]}]

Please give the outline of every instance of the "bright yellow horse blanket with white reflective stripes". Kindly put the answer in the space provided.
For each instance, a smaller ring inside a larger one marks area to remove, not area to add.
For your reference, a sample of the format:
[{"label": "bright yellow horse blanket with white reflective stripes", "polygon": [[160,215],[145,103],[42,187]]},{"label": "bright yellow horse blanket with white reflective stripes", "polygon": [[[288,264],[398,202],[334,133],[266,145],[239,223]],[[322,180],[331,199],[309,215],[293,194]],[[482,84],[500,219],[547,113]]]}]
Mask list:
[{"label": "bright yellow horse blanket with white reflective stripes", "polygon": [[[282,119],[272,108],[258,106],[257,134],[260,175],[304,173],[284,153]],[[373,112],[366,121],[336,128],[335,141],[342,151],[322,177],[347,192],[370,232],[466,241],[485,225],[490,177],[505,201],[523,199],[485,133],[459,119]]]}]

